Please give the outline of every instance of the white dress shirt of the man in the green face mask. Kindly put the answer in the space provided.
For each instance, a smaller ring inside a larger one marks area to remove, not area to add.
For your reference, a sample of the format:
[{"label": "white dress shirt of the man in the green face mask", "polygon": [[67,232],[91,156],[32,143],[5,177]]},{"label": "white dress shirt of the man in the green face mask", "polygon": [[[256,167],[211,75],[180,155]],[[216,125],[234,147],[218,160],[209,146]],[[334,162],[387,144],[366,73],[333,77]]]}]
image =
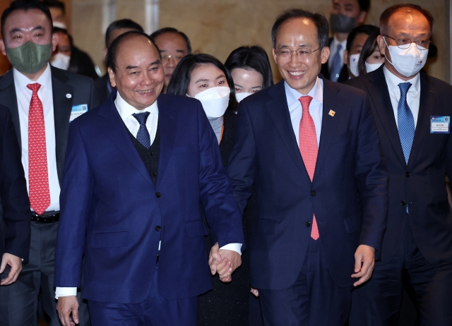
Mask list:
[{"label": "white dress shirt of the man in the green face mask", "polygon": [[[28,112],[30,111],[31,96],[33,94],[27,85],[38,83],[41,85],[37,96],[42,102],[44,109],[45,143],[47,152],[47,172],[49,174],[50,205],[46,211],[59,211],[59,187],[57,172],[57,150],[55,145],[55,121],[54,121],[54,98],[52,93],[52,74],[50,65],[36,81],[28,79],[22,73],[13,68],[14,85],[16,87],[17,107],[20,124],[20,143],[22,145],[22,165],[27,181],[27,190],[30,193],[28,181]],[[69,123],[69,121],[68,121]]]}]

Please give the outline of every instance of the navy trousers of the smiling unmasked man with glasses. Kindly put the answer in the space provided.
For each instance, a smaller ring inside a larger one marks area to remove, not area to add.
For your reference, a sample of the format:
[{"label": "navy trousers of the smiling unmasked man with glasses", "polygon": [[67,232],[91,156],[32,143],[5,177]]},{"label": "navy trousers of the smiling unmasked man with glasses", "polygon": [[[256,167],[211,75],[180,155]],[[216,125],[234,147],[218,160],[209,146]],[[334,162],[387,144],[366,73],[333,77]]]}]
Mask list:
[{"label": "navy trousers of the smiling unmasked man with glasses", "polygon": [[282,290],[258,290],[264,325],[343,326],[350,315],[352,286],[340,288],[334,283],[319,240],[310,239],[294,284]]}]

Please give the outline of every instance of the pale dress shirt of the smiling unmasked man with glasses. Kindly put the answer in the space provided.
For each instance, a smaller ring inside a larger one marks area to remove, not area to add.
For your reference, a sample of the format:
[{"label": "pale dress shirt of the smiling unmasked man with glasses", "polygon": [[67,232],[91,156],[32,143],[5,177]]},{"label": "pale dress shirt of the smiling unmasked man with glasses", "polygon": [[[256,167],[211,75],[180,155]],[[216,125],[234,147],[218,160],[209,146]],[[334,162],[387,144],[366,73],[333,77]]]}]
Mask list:
[{"label": "pale dress shirt of the smiling unmasked man with glasses", "polygon": [[312,90],[307,95],[302,95],[302,93],[291,88],[286,82],[284,82],[284,88],[287,107],[289,107],[290,121],[292,121],[295,138],[297,138],[297,146],[299,146],[299,122],[302,120],[303,115],[302,104],[298,99],[308,95],[312,97],[311,104],[309,104],[309,114],[311,114],[312,120],[314,120],[314,126],[316,126],[317,148],[319,148],[320,134],[322,131],[323,80],[317,77],[314,87],[312,87]]}]

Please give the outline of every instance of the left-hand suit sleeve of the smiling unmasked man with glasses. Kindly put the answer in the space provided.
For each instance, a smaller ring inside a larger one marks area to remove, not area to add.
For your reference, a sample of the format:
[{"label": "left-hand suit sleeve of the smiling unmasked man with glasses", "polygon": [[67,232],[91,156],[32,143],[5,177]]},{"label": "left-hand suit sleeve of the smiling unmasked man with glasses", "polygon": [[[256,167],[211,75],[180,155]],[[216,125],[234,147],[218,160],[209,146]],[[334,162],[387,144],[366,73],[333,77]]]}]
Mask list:
[{"label": "left-hand suit sleeve of the smiling unmasked man with glasses", "polygon": [[227,171],[229,172],[234,197],[243,212],[251,197],[256,174],[256,144],[254,143],[253,129],[249,111],[241,104],[237,114],[235,127],[235,144],[229,159]]}]

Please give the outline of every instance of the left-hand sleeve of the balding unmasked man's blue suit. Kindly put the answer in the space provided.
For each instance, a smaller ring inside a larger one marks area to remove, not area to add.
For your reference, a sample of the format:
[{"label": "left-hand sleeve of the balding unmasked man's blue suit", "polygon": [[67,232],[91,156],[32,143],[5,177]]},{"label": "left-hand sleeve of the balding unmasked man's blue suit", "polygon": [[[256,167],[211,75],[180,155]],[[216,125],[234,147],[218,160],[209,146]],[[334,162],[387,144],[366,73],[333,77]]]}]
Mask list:
[{"label": "left-hand sleeve of the balding unmasked man's blue suit", "polygon": [[93,178],[83,135],[73,121],[69,127],[60,195],[60,221],[55,250],[55,286],[80,287],[82,257],[88,225]]}]

